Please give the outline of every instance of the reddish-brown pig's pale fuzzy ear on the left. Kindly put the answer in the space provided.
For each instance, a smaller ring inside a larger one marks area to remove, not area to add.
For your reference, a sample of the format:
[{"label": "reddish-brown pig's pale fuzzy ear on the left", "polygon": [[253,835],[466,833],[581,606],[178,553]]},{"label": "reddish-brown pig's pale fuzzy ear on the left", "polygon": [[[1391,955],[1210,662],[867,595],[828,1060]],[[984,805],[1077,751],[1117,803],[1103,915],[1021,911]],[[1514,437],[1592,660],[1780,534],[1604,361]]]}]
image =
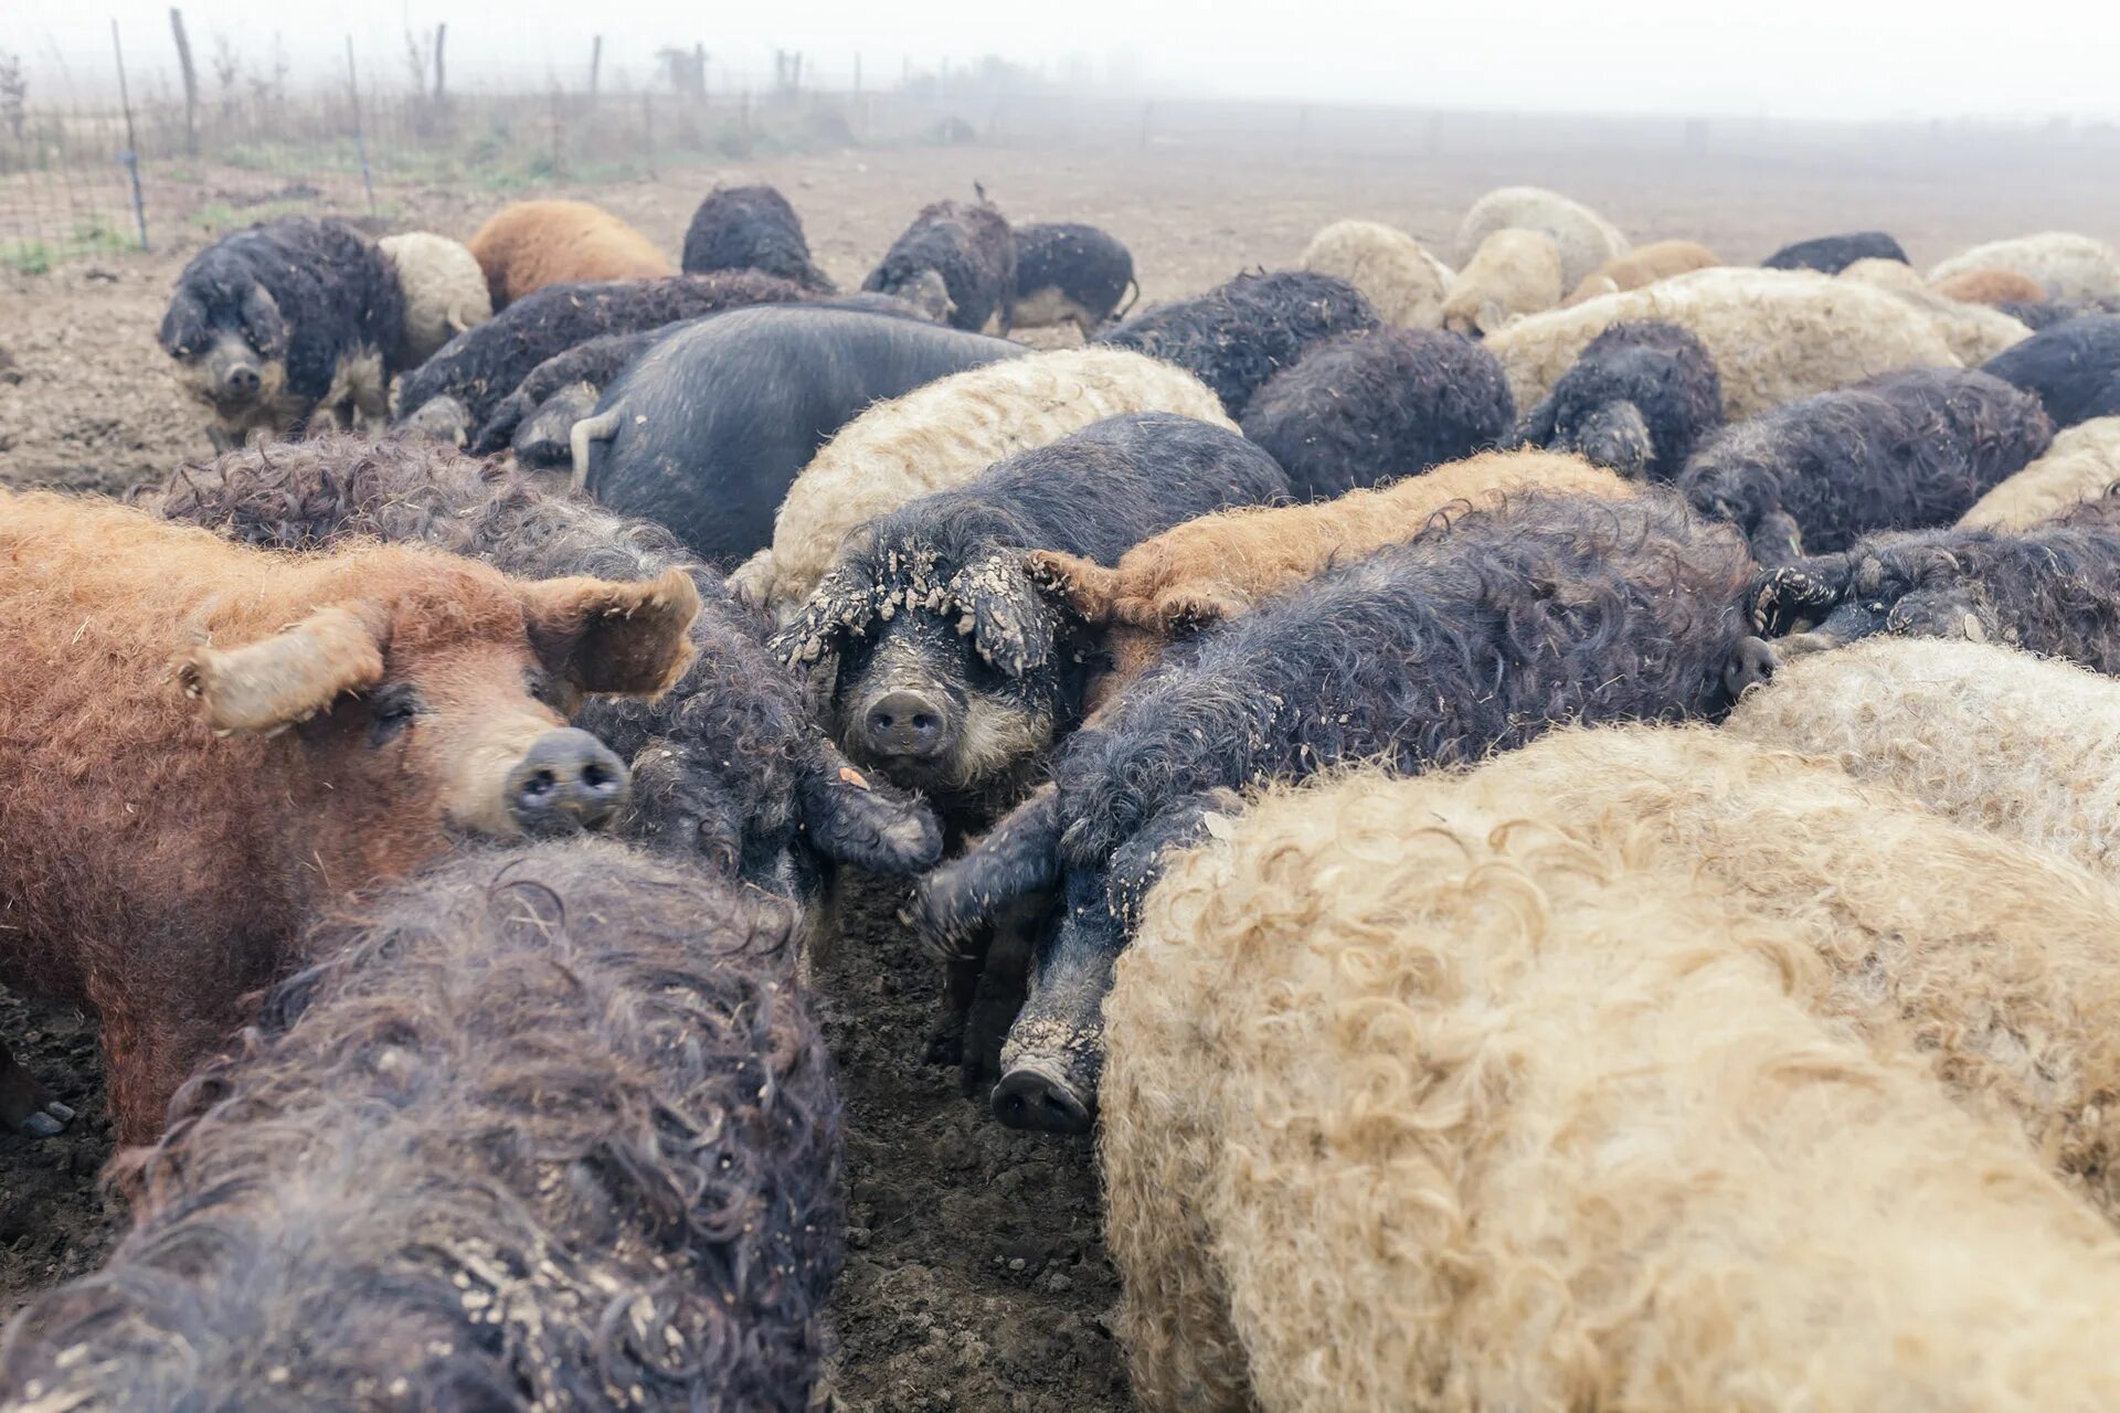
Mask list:
[{"label": "reddish-brown pig's pale fuzzy ear on the left", "polygon": [[214,731],[273,735],[329,708],[339,693],[384,680],[375,610],[333,604],[244,648],[193,648],[176,661],[187,697]]}]

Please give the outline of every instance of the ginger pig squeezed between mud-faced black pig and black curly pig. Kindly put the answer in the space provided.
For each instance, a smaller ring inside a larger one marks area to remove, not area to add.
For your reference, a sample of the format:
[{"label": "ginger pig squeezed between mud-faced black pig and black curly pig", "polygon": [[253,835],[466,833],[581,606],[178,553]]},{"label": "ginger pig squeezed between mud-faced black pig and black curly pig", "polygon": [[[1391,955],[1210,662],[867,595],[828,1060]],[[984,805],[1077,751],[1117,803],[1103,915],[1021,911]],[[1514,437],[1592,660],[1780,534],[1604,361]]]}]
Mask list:
[{"label": "ginger pig squeezed between mud-faced black pig and black curly pig", "polygon": [[1172,642],[1249,612],[1264,597],[1473,506],[1535,489],[1632,494],[1626,481],[1577,455],[1486,451],[1333,500],[1202,515],[1132,547],[1115,568],[1056,553],[1035,553],[1030,564],[1092,629],[1098,659],[1109,663],[1109,678],[1094,684],[1102,699]]}]

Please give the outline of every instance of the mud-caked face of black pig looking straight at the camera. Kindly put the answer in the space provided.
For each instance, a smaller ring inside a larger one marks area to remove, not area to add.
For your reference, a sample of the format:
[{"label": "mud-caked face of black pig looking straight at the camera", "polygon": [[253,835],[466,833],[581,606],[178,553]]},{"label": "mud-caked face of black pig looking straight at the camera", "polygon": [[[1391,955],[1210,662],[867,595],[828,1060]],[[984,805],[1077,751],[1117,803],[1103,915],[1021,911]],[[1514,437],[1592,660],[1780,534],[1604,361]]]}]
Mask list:
[{"label": "mud-caked face of black pig looking straight at the camera", "polygon": [[820,674],[854,763],[960,807],[1013,794],[1079,705],[1060,614],[1007,551],[920,578],[835,570],[776,648]]}]

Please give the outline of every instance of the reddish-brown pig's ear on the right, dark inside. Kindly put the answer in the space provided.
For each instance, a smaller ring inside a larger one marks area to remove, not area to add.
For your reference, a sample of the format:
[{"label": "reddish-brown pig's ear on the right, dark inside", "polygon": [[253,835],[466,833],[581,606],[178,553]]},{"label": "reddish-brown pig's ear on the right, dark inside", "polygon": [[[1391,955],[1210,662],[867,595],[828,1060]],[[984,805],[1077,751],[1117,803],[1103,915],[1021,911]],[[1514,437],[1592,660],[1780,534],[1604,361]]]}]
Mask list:
[{"label": "reddish-brown pig's ear on the right, dark inside", "polygon": [[538,661],[585,693],[657,697],[691,665],[700,591],[685,570],[661,578],[547,578],[522,585]]}]

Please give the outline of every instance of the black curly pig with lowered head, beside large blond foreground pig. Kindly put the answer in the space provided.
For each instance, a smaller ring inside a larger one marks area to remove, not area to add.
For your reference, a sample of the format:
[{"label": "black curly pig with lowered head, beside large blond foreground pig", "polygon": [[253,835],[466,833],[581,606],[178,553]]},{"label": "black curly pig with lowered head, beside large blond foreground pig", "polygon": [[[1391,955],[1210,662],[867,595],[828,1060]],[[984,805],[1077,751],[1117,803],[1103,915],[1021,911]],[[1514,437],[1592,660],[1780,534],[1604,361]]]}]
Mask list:
[{"label": "black curly pig with lowered head, beside large blond foreground pig", "polygon": [[1155,858],[1232,792],[1382,761],[1473,763],[1562,722],[1715,718],[1743,686],[1755,564],[1675,494],[1522,496],[1471,511],[1213,627],[1054,756],[1056,792],[929,875],[914,919],[960,945],[1022,886],[1058,881],[994,1110],[1088,1127],[1098,1008]]}]

